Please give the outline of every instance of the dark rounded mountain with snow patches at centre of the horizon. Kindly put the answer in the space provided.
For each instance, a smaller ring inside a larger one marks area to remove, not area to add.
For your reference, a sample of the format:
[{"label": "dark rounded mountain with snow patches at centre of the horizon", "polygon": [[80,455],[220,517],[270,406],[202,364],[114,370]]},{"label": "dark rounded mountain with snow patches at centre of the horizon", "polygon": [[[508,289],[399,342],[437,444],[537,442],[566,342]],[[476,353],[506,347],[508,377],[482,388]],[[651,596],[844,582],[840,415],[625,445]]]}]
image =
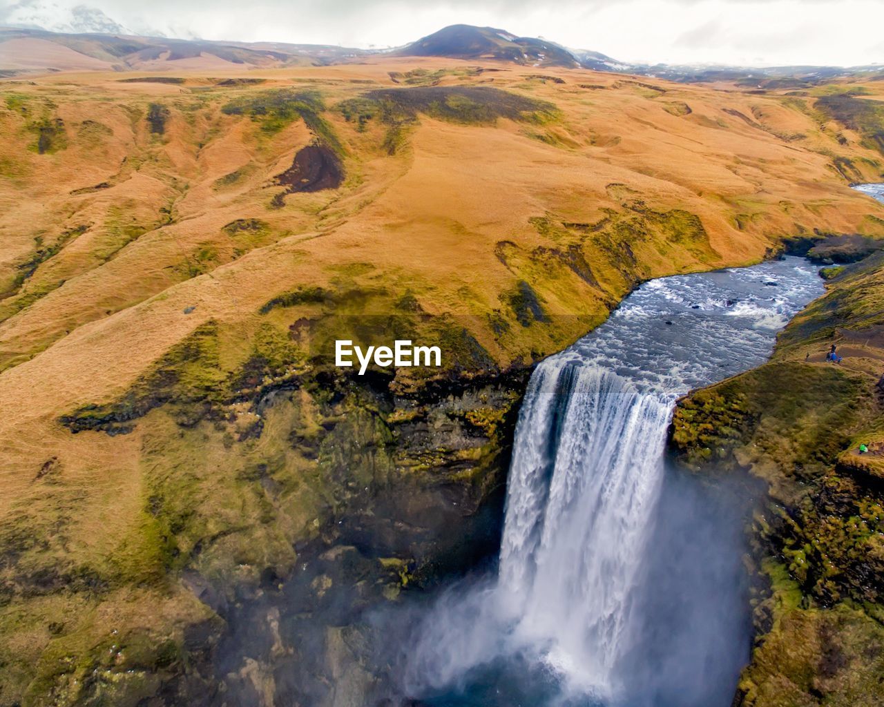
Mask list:
[{"label": "dark rounded mountain with snow patches at centre of the horizon", "polygon": [[574,55],[554,42],[517,37],[495,27],[451,25],[392,52],[398,57],[497,59],[530,66],[579,65]]}]

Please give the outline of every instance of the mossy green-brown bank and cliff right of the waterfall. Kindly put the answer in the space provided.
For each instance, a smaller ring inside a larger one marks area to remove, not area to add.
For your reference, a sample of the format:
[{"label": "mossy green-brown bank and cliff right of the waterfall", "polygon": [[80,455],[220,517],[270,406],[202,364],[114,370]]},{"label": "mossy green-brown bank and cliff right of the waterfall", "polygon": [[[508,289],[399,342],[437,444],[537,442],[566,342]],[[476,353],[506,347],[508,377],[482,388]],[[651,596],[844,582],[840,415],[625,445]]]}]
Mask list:
[{"label": "mossy green-brown bank and cliff right of the waterfall", "polygon": [[[827,281],[771,361],[676,408],[671,445],[683,466],[760,482],[746,528],[755,647],[736,704],[884,704],[880,331],[878,253]],[[832,345],[840,364],[825,360]]]}]

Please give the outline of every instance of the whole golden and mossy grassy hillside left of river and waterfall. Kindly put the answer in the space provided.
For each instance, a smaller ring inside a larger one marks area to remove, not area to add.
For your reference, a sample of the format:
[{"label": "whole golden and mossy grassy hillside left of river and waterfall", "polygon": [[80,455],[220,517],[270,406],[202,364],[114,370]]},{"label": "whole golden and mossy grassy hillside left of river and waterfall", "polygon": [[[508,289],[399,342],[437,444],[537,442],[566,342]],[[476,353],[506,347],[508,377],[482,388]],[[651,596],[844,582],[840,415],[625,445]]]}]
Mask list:
[{"label": "whole golden and mossy grassy hillside left of river and waterfall", "polygon": [[[405,58],[131,78],[0,84],[0,704],[184,699],[163,690],[202,680],[225,603],[344,543],[375,491],[407,489],[366,524],[474,512],[525,367],[637,282],[884,237],[849,188],[884,172],[871,118],[824,101],[876,85]],[[399,334],[444,369],[331,367],[334,338]],[[377,590],[432,545],[370,559]]]}]

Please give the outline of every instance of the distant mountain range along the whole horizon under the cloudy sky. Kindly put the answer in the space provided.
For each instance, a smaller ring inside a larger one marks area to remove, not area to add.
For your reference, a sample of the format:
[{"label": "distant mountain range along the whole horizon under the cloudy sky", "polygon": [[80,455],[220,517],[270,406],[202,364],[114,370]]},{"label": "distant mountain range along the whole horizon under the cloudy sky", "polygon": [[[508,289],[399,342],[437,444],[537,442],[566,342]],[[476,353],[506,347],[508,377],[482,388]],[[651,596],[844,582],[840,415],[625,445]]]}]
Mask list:
[{"label": "distant mountain range along the whole horizon under the cloudy sky", "polygon": [[[590,49],[568,49],[545,39],[519,37],[496,27],[471,25],[443,27],[398,49],[379,51],[324,44],[171,39],[159,32],[151,32],[151,36],[133,36],[130,30],[96,8],[78,5],[67,10],[41,0],[12,5],[0,21],[9,27],[0,29],[0,71],[7,74],[46,69],[155,71],[172,66],[181,70],[210,69],[226,64],[278,68],[343,64],[362,61],[366,57],[389,56],[491,60],[538,68],[583,68],[680,83],[727,81],[763,89],[810,87],[839,77],[884,76],[884,66],[881,65],[751,68],[630,64]],[[21,42],[35,39],[42,42]],[[8,43],[12,40],[19,42]],[[52,48],[50,43],[61,45],[67,51]]]}]

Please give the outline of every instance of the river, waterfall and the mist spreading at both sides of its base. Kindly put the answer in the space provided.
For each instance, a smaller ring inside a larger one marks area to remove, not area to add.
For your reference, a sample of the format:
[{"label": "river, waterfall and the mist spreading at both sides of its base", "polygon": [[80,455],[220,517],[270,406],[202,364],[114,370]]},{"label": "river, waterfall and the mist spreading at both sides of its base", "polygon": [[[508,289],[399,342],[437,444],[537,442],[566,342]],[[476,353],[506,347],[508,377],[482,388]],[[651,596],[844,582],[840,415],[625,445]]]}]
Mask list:
[{"label": "river, waterfall and the mist spreading at both sides of its base", "polygon": [[[795,257],[652,280],[541,362],[516,430],[498,572],[448,590],[417,623],[408,694],[725,707],[748,651],[746,632],[734,635],[739,552],[715,547],[718,511],[696,484],[667,482],[667,426],[679,396],[766,361],[822,291]],[[736,559],[720,564],[722,552]]]}]

